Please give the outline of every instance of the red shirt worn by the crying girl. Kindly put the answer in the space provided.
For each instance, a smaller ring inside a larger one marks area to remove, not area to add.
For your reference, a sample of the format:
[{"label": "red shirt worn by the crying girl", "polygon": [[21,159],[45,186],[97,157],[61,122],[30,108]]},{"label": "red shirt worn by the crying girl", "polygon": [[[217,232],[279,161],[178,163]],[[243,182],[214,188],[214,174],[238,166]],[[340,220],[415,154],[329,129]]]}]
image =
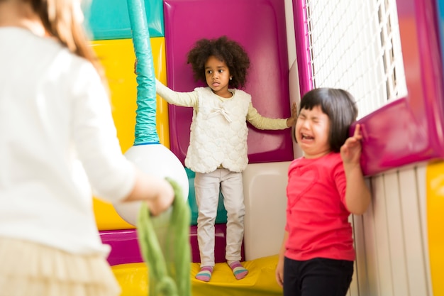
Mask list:
[{"label": "red shirt worn by the crying girl", "polygon": [[298,158],[289,166],[285,256],[355,260],[350,212],[345,206],[345,172],[339,153]]}]

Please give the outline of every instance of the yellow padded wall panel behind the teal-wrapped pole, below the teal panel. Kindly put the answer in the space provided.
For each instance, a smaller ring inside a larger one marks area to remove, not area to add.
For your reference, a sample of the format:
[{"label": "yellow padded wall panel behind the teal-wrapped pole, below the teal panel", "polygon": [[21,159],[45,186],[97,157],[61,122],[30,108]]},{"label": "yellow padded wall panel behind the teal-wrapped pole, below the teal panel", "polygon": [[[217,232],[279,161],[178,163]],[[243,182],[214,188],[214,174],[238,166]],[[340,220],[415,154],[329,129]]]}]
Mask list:
[{"label": "yellow padded wall panel behind the teal-wrapped pole, below the teal panel", "polygon": [[[155,76],[166,80],[165,38],[150,38]],[[122,152],[133,146],[137,82],[134,74],[135,53],[132,39],[96,40],[91,42],[106,72],[113,106],[113,119]],[[156,125],[160,143],[170,148],[168,106],[157,97]],[[132,229],[109,203],[94,199],[94,214],[99,230]]]}]

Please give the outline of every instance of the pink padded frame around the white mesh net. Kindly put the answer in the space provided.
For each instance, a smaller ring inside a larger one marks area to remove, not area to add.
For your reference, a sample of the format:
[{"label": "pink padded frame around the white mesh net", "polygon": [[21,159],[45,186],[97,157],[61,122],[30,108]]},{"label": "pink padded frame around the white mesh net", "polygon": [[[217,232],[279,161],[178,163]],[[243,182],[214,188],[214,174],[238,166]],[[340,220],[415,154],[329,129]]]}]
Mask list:
[{"label": "pink padded frame around the white mesh net", "polygon": [[[307,77],[311,70],[304,2],[293,0],[301,94],[312,88]],[[443,70],[435,1],[398,0],[396,4],[409,94],[358,122],[364,136],[365,175],[444,157]]]}]

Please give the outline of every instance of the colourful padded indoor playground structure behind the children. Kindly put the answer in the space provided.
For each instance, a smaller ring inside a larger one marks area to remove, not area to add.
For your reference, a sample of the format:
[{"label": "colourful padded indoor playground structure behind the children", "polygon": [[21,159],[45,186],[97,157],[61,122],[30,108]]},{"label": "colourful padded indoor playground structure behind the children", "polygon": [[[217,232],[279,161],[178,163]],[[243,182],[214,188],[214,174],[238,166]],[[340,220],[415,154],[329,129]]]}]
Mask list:
[{"label": "colourful padded indoor playground structure behind the children", "polygon": [[[372,204],[350,217],[357,252],[350,296],[444,295],[443,6],[441,0],[145,0],[155,77],[176,91],[201,86],[186,63],[194,42],[227,35],[250,55],[245,90],[263,116],[287,118],[292,102],[314,87],[342,87],[356,97]],[[85,12],[126,152],[135,140],[137,109],[128,7],[121,0],[92,0]],[[183,164],[192,110],[156,102],[160,143]],[[242,280],[225,263],[222,199],[211,282],[194,279],[197,207],[194,172],[185,168],[192,295],[282,295],[274,269],[284,234],[287,168],[300,155],[289,129],[249,126],[243,264],[250,273]],[[94,212],[102,241],[111,245],[108,261],[122,295],[148,295],[135,226],[98,199]]]}]

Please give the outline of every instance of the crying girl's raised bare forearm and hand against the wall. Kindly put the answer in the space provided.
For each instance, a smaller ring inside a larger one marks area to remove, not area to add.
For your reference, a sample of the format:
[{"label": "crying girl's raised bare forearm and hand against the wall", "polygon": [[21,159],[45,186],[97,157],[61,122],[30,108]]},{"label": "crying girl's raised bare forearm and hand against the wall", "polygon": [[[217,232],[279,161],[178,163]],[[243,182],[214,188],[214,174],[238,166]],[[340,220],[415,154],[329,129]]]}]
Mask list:
[{"label": "crying girl's raised bare forearm and hand against the wall", "polygon": [[357,124],[353,136],[348,138],[340,148],[347,180],[345,203],[348,211],[352,214],[364,214],[370,204],[371,197],[360,165],[361,139],[360,125]]}]

